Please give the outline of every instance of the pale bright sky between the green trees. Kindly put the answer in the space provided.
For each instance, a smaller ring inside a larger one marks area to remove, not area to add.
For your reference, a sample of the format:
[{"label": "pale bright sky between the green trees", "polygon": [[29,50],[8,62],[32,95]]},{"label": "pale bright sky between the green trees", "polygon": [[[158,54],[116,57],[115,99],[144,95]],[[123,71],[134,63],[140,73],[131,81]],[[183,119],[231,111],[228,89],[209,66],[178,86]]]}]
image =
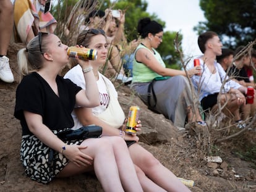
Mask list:
[{"label": "pale bright sky between the green trees", "polygon": [[185,57],[202,55],[193,27],[205,21],[199,0],[146,0],[147,12],[155,13],[166,23],[164,31],[179,31],[183,35],[182,50]]}]

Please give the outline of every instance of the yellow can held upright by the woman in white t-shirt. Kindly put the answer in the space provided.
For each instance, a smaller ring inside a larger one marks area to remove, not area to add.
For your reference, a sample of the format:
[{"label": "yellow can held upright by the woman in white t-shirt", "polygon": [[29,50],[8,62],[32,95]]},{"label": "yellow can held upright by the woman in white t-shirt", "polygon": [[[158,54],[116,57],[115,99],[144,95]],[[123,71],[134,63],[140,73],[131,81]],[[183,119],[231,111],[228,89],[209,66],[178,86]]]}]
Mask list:
[{"label": "yellow can held upright by the woman in white t-shirt", "polygon": [[139,120],[140,107],[130,106],[128,120],[126,123],[126,133],[136,133],[136,125]]}]

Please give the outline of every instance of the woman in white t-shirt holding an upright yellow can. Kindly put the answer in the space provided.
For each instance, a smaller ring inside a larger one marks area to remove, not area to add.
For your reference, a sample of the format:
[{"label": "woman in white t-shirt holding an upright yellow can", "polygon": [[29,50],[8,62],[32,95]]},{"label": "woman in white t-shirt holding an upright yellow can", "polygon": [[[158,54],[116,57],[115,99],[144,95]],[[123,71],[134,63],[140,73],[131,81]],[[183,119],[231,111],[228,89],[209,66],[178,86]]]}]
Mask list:
[{"label": "woman in white t-shirt holding an upright yellow can", "polygon": [[[181,183],[179,178],[139,145],[137,135],[122,131],[126,117],[117,100],[117,92],[111,81],[98,72],[101,65],[105,64],[108,53],[105,32],[95,29],[82,31],[77,38],[77,44],[96,49],[98,52],[97,59],[91,63],[100,91],[101,104],[94,108],[77,106],[73,112],[74,122],[76,122],[74,128],[78,128],[80,125],[95,124],[103,128],[103,136],[121,136],[124,138],[143,191],[190,191]],[[79,67],[76,65],[70,69],[64,78],[70,78],[74,83],[85,88],[86,79],[82,78],[83,73]],[[139,123],[136,128],[137,131],[140,131],[140,127],[141,124]],[[127,169],[126,165],[123,169]]]}]

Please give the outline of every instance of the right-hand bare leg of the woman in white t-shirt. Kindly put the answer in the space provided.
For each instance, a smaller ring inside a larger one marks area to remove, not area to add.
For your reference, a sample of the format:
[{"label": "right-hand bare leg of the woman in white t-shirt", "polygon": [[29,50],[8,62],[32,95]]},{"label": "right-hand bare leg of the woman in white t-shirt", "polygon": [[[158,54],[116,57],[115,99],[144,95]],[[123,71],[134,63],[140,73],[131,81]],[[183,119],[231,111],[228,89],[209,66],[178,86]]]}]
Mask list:
[{"label": "right-hand bare leg of the woman in white t-shirt", "polygon": [[132,144],[129,147],[129,152],[134,164],[156,185],[166,191],[190,191],[170,170],[139,144]]}]

